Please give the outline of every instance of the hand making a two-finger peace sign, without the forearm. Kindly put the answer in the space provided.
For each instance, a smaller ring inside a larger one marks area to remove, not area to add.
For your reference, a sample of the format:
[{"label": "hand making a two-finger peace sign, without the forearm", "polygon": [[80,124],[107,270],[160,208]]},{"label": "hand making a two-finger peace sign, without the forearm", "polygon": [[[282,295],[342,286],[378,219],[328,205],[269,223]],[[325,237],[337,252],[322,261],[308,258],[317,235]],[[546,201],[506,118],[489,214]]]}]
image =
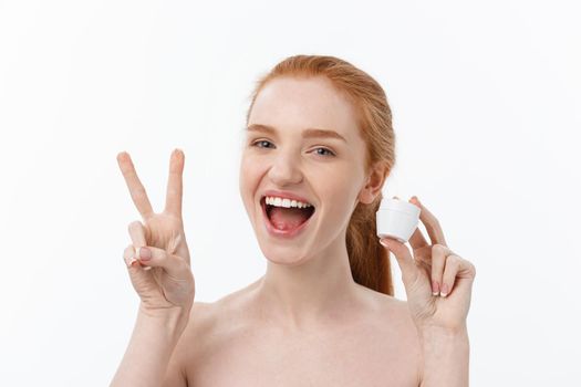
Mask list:
[{"label": "hand making a two-finger peace sign, without the forearm", "polygon": [[179,149],[172,153],[166,206],[159,213],[153,211],[129,155],[120,153],[117,163],[143,218],[143,223],[129,223],[133,243],[123,253],[133,287],[142,300],[141,307],[146,312],[189,311],[195,281],[181,219],[184,153]]}]

